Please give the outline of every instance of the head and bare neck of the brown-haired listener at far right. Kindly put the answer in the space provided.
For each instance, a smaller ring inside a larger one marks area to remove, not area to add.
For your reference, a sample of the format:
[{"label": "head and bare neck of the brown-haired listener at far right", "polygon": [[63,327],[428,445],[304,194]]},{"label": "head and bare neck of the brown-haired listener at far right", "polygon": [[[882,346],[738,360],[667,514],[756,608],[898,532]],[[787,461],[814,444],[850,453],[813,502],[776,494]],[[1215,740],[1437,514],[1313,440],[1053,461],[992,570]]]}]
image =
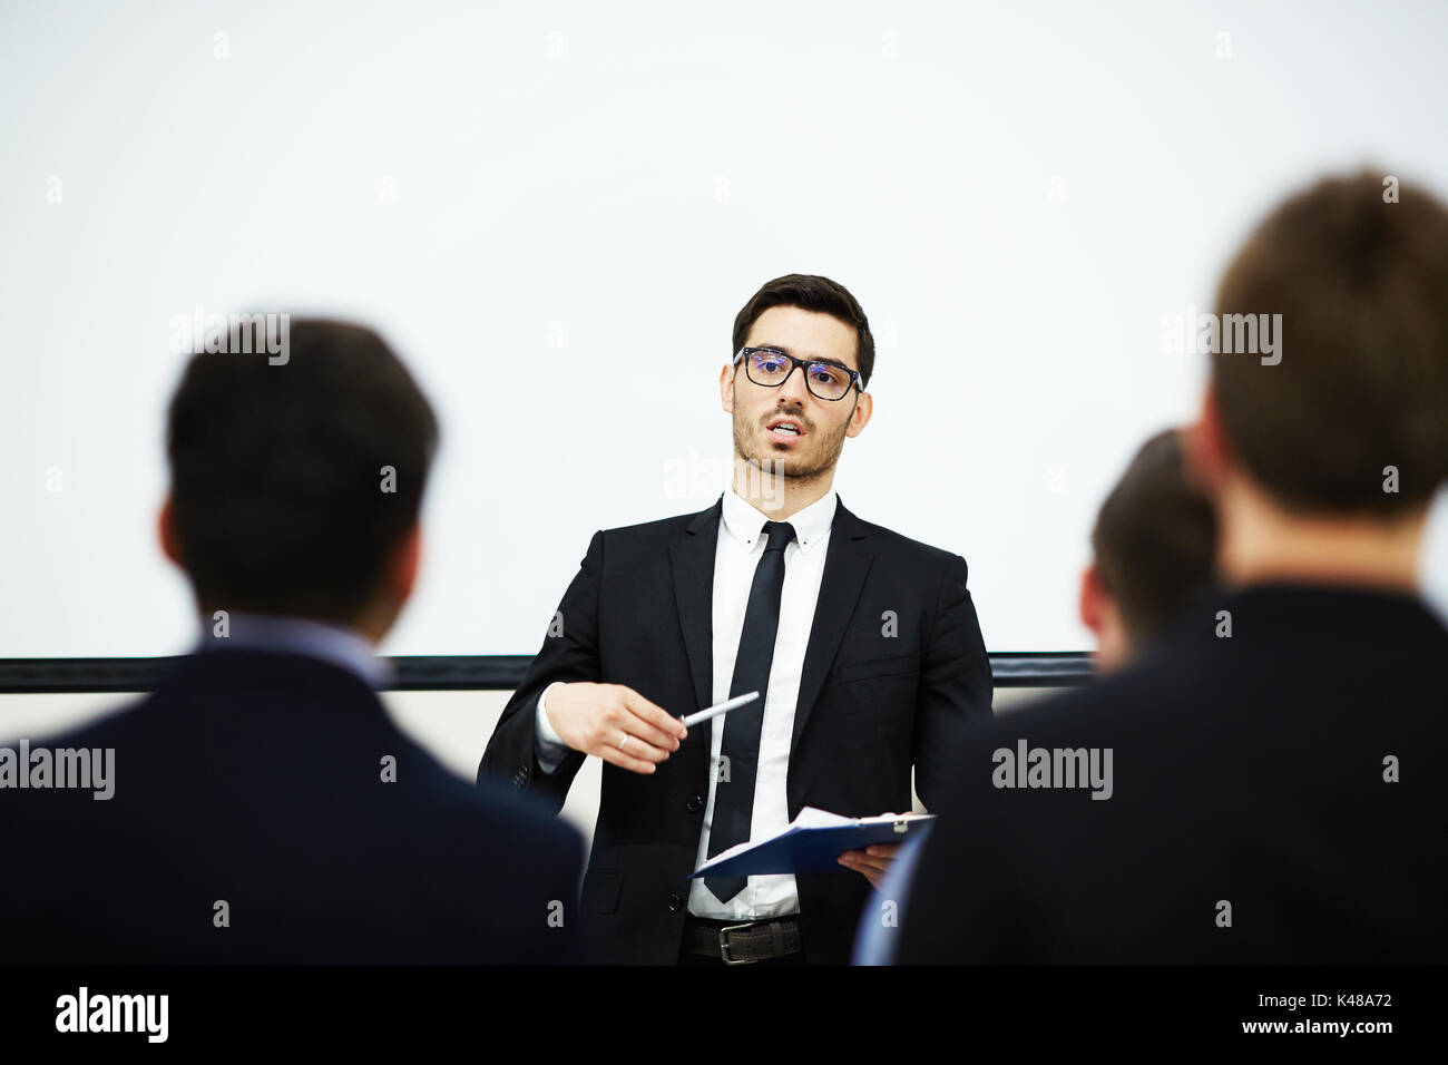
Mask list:
[{"label": "head and bare neck of the brown-haired listener at far right", "polygon": [[1224,584],[1416,591],[1448,478],[1448,207],[1384,171],[1318,181],[1226,268],[1187,462],[1212,497]]}]

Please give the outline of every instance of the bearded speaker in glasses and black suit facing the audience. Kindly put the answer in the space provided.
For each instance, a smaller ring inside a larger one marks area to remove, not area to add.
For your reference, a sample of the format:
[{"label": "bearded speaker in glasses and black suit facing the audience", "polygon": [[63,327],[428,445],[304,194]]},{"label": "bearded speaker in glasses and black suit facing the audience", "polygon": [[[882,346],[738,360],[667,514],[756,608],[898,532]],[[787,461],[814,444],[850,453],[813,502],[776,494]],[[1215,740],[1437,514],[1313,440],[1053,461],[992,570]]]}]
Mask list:
[{"label": "bearded speaker in glasses and black suit facing the audience", "polygon": [[[731,490],[594,535],[478,771],[556,810],[585,756],[605,762],[581,907],[617,962],[847,961],[893,846],[833,874],[689,874],[805,806],[908,810],[912,765],[933,803],[950,740],[990,717],[964,559],[860,520],[831,487],[870,420],[859,303],[828,278],[776,278],[736,317],[733,352]],[[760,700],[692,730],[676,717],[747,691]]]}]

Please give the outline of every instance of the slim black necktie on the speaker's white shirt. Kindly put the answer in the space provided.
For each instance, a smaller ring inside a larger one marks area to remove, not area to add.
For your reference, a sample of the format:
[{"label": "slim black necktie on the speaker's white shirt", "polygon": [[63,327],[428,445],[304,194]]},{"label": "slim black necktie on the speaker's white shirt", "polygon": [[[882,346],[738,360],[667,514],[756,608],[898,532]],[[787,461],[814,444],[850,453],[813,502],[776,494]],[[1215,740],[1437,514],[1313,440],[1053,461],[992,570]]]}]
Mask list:
[{"label": "slim black necktie on the speaker's white shirt", "polygon": [[[727,851],[749,839],[749,823],[754,814],[754,771],[759,767],[759,732],[765,723],[765,698],[769,694],[769,667],[775,661],[775,633],[779,632],[779,593],[785,587],[785,546],[795,538],[788,522],[765,522],[760,533],[767,536],[765,556],[754,567],[754,582],[749,588],[744,609],[744,630],[734,656],[734,680],[728,697],[757,691],[759,698],[724,714],[724,748],[720,765],[714,767],[714,820],[710,823],[708,856]],[[728,767],[724,778],[723,767]],[[727,903],[744,890],[749,877],[705,877],[715,898]]]}]

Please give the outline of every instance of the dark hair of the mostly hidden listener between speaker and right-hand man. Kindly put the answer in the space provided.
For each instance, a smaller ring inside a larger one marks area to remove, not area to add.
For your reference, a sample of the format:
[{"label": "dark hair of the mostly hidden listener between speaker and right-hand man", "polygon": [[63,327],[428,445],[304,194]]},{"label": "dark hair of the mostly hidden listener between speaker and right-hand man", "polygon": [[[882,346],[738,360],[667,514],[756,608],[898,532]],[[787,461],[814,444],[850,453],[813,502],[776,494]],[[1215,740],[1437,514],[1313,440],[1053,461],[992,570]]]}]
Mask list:
[{"label": "dark hair of the mostly hidden listener between speaker and right-hand man", "polygon": [[1096,572],[1141,646],[1213,582],[1216,517],[1186,475],[1171,429],[1148,439],[1106,496],[1090,535]]}]

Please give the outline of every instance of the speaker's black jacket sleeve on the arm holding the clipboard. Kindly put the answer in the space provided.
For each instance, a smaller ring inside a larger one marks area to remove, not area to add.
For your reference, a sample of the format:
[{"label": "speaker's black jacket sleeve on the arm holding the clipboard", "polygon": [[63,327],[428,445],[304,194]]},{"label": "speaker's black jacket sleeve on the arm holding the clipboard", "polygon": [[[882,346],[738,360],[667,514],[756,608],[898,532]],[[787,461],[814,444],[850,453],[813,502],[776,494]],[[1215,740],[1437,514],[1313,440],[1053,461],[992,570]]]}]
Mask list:
[{"label": "speaker's black jacket sleeve on the arm holding the clipboard", "polygon": [[966,588],[966,559],[951,555],[940,582],[935,623],[925,643],[915,701],[915,791],[934,810],[959,738],[993,713],[990,658]]}]

